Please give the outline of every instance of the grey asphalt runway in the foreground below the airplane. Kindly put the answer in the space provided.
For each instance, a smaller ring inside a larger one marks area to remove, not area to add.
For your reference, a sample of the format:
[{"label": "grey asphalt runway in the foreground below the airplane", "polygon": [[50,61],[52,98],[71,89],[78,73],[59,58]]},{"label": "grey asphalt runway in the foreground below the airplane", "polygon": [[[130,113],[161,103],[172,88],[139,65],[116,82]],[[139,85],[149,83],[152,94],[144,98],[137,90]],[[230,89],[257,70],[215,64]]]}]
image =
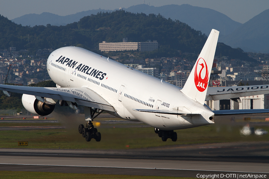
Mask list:
[{"label": "grey asphalt runway in the foreground below the airplane", "polygon": [[128,150],[0,149],[0,170],[193,178],[240,178],[250,174],[269,178],[268,144],[218,143]]}]

